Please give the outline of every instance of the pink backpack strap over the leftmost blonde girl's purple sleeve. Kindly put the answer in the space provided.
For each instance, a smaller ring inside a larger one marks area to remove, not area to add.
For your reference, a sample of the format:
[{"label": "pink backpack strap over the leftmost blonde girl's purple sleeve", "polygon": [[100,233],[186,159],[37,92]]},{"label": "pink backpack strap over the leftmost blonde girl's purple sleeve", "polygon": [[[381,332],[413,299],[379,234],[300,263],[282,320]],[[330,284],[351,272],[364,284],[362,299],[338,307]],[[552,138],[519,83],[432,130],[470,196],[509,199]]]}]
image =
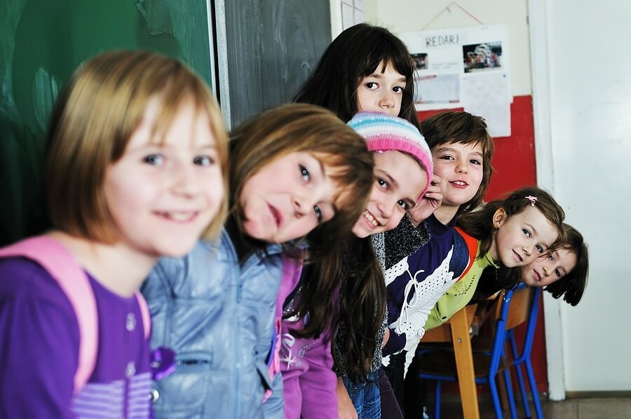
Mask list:
[{"label": "pink backpack strap over the leftmost blonde girl's purple sleeve", "polygon": [[[90,280],[68,249],[47,236],[29,238],[0,249],[0,257],[8,256],[22,256],[39,263],[57,280],[74,308],[79,323],[79,365],[74,373],[74,392],[79,392],[92,375],[97,357],[97,305]],[[146,308],[147,304],[144,306]]]}]

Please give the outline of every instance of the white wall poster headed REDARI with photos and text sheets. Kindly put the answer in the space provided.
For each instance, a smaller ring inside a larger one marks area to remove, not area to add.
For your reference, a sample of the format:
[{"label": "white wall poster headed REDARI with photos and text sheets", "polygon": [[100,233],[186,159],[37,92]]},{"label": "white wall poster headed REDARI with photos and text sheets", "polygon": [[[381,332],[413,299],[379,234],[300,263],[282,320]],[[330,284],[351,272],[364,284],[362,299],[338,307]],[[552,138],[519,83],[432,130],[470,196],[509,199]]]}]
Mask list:
[{"label": "white wall poster headed REDARI with photos and text sheets", "polygon": [[[496,136],[510,135],[508,25],[477,25],[399,34],[412,54],[414,106],[475,109]],[[483,113],[483,114],[482,114]]]}]

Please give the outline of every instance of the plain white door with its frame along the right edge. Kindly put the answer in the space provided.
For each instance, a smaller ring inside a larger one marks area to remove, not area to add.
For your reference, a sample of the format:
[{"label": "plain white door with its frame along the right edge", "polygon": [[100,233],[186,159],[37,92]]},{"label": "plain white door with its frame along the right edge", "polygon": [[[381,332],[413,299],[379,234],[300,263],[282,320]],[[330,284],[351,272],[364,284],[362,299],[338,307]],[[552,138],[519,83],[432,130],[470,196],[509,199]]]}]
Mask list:
[{"label": "plain white door with its frame along the right edge", "polygon": [[583,301],[576,308],[560,304],[557,312],[546,301],[546,329],[553,320],[562,335],[552,350],[561,352],[567,391],[631,390],[631,282],[623,263],[631,249],[631,8],[623,0],[531,4],[538,11],[533,27],[547,32],[533,34],[534,76],[542,81],[534,85],[541,115],[536,144],[543,151],[538,179],[590,244]]}]

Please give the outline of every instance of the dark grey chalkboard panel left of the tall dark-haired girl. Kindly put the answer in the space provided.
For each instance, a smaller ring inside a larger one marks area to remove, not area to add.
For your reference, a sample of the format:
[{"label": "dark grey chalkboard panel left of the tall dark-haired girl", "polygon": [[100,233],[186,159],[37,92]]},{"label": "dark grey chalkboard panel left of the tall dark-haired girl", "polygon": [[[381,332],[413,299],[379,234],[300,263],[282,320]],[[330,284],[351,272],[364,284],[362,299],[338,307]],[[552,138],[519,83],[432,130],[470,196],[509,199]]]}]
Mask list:
[{"label": "dark grey chalkboard panel left of the tall dark-haired girl", "polygon": [[[225,34],[218,25],[219,53],[225,48],[231,126],[263,109],[291,102],[331,42],[329,0],[224,0]],[[222,42],[224,41],[224,42]],[[323,86],[326,88],[326,86]]]}]

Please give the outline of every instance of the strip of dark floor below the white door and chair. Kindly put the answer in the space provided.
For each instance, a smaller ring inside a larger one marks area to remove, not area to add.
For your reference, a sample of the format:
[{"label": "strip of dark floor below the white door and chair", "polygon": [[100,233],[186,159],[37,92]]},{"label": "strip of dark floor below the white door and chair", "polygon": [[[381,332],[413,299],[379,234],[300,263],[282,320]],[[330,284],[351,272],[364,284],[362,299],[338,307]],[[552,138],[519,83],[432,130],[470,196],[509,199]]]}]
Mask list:
[{"label": "strip of dark floor below the white door and chair", "polygon": [[[541,409],[546,419],[624,419],[631,418],[631,398],[568,398],[564,401],[545,401],[541,398]],[[532,403],[531,403],[532,405]],[[433,417],[433,406],[428,412]],[[519,418],[525,418],[521,401],[517,401],[517,414]],[[531,406],[531,415],[535,415]],[[441,403],[440,417],[443,419],[462,418],[462,406],[460,397],[457,395],[447,395],[443,397]],[[504,411],[504,417],[510,418],[510,411]],[[480,395],[480,418],[495,418],[491,396]]]}]

